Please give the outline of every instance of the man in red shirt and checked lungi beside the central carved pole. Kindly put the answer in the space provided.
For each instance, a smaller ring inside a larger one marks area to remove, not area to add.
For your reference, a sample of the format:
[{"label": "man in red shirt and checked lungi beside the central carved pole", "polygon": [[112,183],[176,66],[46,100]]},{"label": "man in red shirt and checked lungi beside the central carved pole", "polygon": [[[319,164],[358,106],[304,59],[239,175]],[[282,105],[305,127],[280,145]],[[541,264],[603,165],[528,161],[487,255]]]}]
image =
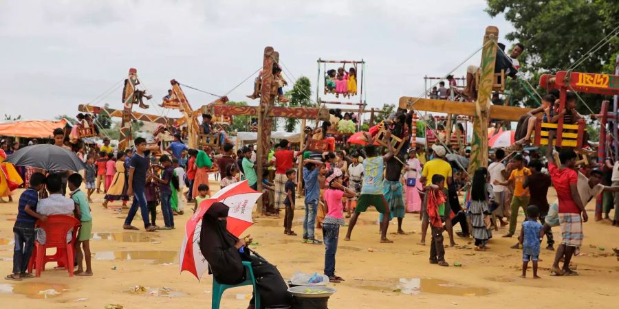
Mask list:
[{"label": "man in red shirt and checked lungi beside the central carved pole", "polygon": [[305,143],[305,148],[301,151],[288,150],[290,142],[287,139],[282,139],[277,145],[271,162],[275,165],[275,209],[285,209],[284,201],[286,199],[285,185],[288,180],[286,171],[292,168],[294,157],[303,155],[309,143]]}]

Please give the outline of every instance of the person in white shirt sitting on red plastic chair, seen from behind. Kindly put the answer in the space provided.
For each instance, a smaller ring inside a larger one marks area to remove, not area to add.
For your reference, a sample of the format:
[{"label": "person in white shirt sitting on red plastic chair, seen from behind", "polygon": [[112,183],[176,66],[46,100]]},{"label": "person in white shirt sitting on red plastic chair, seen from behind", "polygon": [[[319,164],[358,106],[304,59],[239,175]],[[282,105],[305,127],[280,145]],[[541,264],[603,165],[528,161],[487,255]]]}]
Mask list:
[{"label": "person in white shirt sitting on red plastic chair, seen from behind", "polygon": [[[66,215],[74,216],[74,210],[79,207],[71,198],[67,198],[62,194],[62,179],[58,174],[50,174],[45,179],[45,185],[47,191],[50,192],[50,196],[43,198],[36,205],[36,212],[42,216],[51,215]],[[67,232],[67,242],[71,241],[72,231]],[[36,233],[36,240],[40,244],[45,244],[45,231],[39,229]]]}]

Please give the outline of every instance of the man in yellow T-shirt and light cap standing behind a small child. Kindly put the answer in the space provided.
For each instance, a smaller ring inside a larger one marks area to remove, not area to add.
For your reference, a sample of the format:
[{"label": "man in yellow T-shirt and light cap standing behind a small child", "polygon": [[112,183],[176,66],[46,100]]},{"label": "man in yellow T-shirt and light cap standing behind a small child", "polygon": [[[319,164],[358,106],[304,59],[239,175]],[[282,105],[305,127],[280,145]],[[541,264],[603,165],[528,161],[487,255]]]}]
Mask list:
[{"label": "man in yellow T-shirt and light cap standing behind a small child", "polygon": [[[453,181],[453,177],[451,176],[453,174],[451,164],[445,161],[445,155],[447,155],[447,150],[442,145],[434,144],[432,145],[432,151],[433,151],[433,159],[426,162],[426,164],[424,165],[424,170],[422,172],[420,181],[424,183],[424,185],[426,185],[426,180],[432,179],[432,176],[434,176],[435,174],[439,174],[445,177],[445,188],[447,188],[448,185]],[[446,189],[444,193],[445,193],[445,196],[448,196],[448,192]],[[424,201],[422,203],[422,211],[420,212],[420,218],[422,218],[422,239],[419,242],[419,244],[422,244],[422,245],[426,244],[426,232],[428,231],[428,225],[429,225],[429,217],[426,211],[426,207],[427,207],[427,196],[424,197]],[[451,209],[451,208],[445,207],[445,209]],[[451,218],[450,218],[451,211],[446,211],[446,212],[448,212],[449,214],[445,214],[445,220],[444,220],[445,228],[449,236],[450,246],[455,246],[456,243],[453,241],[453,229],[451,226]]]}]

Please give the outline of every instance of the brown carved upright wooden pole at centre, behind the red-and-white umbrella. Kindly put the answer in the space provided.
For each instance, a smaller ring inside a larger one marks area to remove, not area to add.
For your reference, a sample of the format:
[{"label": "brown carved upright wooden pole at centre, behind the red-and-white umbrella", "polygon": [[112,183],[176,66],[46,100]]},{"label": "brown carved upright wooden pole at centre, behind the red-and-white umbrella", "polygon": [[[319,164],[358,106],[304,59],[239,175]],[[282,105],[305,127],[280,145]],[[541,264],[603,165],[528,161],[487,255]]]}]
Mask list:
[{"label": "brown carved upright wooden pole at centre, behind the red-and-white umbrella", "polygon": [[[256,145],[256,172],[258,174],[259,192],[262,192],[262,172],[264,170],[264,163],[268,158],[271,129],[273,126],[273,117],[269,117],[269,114],[275,105],[275,96],[277,95],[277,83],[273,76],[273,65],[278,61],[279,53],[275,52],[273,47],[265,47],[262,65],[262,89],[258,114],[258,141]],[[261,198],[258,200],[258,203],[258,208],[263,209]]]}]

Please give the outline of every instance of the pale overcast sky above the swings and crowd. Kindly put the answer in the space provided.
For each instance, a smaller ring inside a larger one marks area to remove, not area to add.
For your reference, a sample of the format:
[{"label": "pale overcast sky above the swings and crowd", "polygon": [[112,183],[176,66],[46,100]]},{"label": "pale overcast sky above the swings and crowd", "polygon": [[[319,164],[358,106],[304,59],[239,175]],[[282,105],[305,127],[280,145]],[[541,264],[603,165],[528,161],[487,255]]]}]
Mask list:
[{"label": "pale overcast sky above the swings and crowd", "polygon": [[[505,42],[513,28],[484,8],[485,0],[1,1],[0,110],[52,119],[88,102],[121,108],[130,67],[158,103],[173,78],[224,94],[261,67],[267,45],[313,91],[318,58],[364,59],[367,103],[380,107],[419,95],[425,75],[446,75],[481,46],[487,25]],[[479,65],[480,54],[455,75]],[[251,81],[230,100],[246,100]],[[194,108],[214,99],[184,91]]]}]

